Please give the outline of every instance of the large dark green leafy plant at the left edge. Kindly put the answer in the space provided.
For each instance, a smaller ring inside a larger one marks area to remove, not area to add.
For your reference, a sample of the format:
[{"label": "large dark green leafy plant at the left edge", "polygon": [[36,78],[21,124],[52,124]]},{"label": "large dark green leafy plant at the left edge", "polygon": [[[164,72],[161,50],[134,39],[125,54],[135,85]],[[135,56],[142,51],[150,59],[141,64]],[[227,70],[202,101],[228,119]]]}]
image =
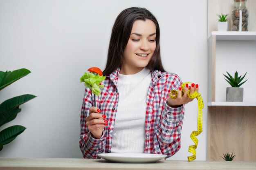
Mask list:
[{"label": "large dark green leafy plant at the left edge", "polygon": [[[31,71],[26,68],[15,71],[0,71],[0,91],[29,73],[31,73]],[[2,104],[0,104],[0,127],[16,118],[17,114],[21,111],[21,108],[19,108],[21,104],[35,97],[36,96],[29,94],[20,95],[2,102]],[[2,150],[3,145],[9,144],[25,129],[24,126],[15,125],[2,130],[0,132],[0,150]]]}]

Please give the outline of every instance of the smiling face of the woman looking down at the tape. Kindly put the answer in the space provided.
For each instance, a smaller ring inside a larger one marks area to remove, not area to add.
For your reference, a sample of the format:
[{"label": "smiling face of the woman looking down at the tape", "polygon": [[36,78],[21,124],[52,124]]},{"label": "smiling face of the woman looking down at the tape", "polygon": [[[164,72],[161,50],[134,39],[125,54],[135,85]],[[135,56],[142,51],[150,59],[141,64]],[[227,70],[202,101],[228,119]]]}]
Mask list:
[{"label": "smiling face of the woman looking down at the tape", "polygon": [[136,20],[124,50],[120,74],[130,75],[148,65],[156,48],[156,27],[151,20]]}]

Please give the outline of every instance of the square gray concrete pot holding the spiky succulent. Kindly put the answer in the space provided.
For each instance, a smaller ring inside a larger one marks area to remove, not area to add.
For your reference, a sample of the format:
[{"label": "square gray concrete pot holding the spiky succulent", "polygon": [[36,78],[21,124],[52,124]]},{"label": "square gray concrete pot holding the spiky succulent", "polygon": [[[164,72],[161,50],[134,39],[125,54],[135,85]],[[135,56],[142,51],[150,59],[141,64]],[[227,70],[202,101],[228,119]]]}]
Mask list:
[{"label": "square gray concrete pot holding the spiky succulent", "polygon": [[244,88],[227,87],[226,102],[243,102]]}]

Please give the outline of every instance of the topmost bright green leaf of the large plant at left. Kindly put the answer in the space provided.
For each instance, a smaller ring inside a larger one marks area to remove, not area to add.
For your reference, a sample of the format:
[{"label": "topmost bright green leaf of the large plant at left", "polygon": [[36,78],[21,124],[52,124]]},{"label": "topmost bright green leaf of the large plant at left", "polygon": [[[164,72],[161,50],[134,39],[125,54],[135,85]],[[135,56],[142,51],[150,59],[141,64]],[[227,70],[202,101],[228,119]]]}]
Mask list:
[{"label": "topmost bright green leaf of the large plant at left", "polygon": [[0,90],[5,88],[6,86],[16,82],[18,79],[28,75],[31,71],[27,70],[26,68],[21,68],[19,70],[14,71],[6,71],[0,72]]}]

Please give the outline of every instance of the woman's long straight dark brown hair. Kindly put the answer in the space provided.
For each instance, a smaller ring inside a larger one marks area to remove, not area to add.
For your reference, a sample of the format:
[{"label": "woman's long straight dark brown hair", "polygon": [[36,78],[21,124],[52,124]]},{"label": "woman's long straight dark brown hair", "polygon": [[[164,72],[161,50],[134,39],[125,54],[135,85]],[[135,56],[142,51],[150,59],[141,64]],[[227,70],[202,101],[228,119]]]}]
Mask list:
[{"label": "woman's long straight dark brown hair", "polygon": [[122,11],[115,20],[108,47],[108,60],[103,75],[110,75],[115,69],[121,67],[124,50],[130,38],[133,23],[136,20],[146,21],[146,19],[152,20],[156,26],[156,48],[146,67],[151,71],[159,70],[165,72],[160,57],[160,29],[157,19],[146,8],[131,7]]}]

